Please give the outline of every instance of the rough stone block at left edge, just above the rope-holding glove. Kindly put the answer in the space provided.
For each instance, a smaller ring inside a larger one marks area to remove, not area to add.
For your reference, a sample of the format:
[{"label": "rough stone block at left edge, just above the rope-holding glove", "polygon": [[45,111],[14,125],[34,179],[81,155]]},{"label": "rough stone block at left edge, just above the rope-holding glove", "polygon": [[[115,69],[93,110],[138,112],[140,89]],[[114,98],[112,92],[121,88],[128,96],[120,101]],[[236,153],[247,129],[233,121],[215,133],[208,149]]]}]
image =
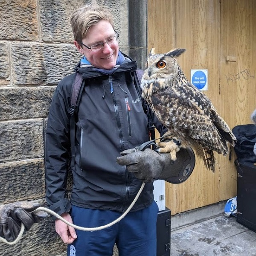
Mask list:
[{"label": "rough stone block at left edge, just above the rope-holding glove", "polygon": [[0,163],[0,173],[1,203],[44,197],[44,159]]}]

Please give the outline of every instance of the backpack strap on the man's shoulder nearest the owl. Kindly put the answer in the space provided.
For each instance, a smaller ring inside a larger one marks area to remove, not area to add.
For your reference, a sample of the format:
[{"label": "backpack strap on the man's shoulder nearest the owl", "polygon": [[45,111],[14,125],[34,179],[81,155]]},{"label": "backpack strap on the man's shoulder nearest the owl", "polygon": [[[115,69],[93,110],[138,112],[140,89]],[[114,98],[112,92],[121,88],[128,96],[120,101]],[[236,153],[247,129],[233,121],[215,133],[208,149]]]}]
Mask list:
[{"label": "backpack strap on the man's shoulder nearest the owl", "polygon": [[139,94],[140,101],[141,101],[142,106],[143,106],[143,110],[146,113],[146,115],[148,116],[149,135],[151,137],[151,140],[154,140],[156,138],[156,136],[155,136],[155,128],[156,127],[154,126],[153,119],[152,119],[152,116],[151,116],[151,109],[149,108],[148,104],[145,102],[145,100],[141,96],[142,90],[140,88],[140,83],[141,83],[143,73],[144,73],[143,70],[136,70],[134,72],[135,87],[136,87],[137,93]]}]

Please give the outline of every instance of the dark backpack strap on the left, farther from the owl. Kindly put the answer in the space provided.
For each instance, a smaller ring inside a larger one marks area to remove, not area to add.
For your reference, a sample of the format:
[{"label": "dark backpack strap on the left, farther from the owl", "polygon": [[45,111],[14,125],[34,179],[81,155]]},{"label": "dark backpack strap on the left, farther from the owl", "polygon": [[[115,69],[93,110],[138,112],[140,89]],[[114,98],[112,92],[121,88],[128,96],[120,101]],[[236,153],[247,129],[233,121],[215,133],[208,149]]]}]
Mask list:
[{"label": "dark backpack strap on the left, farther from the owl", "polygon": [[75,137],[76,137],[76,113],[79,109],[79,102],[81,99],[82,91],[85,81],[80,73],[76,73],[76,78],[72,84],[72,94],[70,100],[70,147],[71,147],[71,163],[70,166],[75,164]]}]

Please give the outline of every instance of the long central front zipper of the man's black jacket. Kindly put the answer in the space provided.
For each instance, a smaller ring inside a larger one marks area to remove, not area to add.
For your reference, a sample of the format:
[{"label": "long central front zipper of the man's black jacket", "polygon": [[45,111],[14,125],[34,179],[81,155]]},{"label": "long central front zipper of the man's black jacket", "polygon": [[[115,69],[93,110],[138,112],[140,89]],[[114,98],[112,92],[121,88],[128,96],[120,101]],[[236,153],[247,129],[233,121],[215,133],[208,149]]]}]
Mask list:
[{"label": "long central front zipper of the man's black jacket", "polygon": [[[123,134],[122,134],[122,128],[121,128],[121,122],[120,122],[120,116],[118,113],[118,106],[116,102],[116,97],[113,89],[113,84],[112,84],[112,76],[109,76],[109,84],[110,84],[110,92],[112,94],[112,99],[114,103],[114,109],[115,109],[115,114],[116,114],[116,122],[117,122],[117,127],[119,131],[119,139],[120,139],[120,145],[121,145],[121,150],[123,151],[125,149],[124,147],[124,141],[123,141]],[[125,191],[125,201],[128,201],[129,199],[129,193],[130,193],[130,185],[129,185],[129,173],[128,170],[125,170],[125,182],[126,182],[126,191]],[[125,203],[123,205],[125,207]],[[122,209],[124,212],[125,209]]]}]

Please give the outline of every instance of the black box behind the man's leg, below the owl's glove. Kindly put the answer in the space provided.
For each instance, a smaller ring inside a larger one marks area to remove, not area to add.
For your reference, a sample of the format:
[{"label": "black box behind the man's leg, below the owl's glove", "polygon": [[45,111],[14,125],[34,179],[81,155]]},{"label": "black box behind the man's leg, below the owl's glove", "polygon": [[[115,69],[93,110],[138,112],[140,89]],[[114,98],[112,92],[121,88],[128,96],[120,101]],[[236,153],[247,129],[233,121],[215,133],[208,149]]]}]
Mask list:
[{"label": "black box behind the man's leg, below the owl's glove", "polygon": [[171,210],[158,212],[157,215],[157,256],[170,256],[171,251]]}]

